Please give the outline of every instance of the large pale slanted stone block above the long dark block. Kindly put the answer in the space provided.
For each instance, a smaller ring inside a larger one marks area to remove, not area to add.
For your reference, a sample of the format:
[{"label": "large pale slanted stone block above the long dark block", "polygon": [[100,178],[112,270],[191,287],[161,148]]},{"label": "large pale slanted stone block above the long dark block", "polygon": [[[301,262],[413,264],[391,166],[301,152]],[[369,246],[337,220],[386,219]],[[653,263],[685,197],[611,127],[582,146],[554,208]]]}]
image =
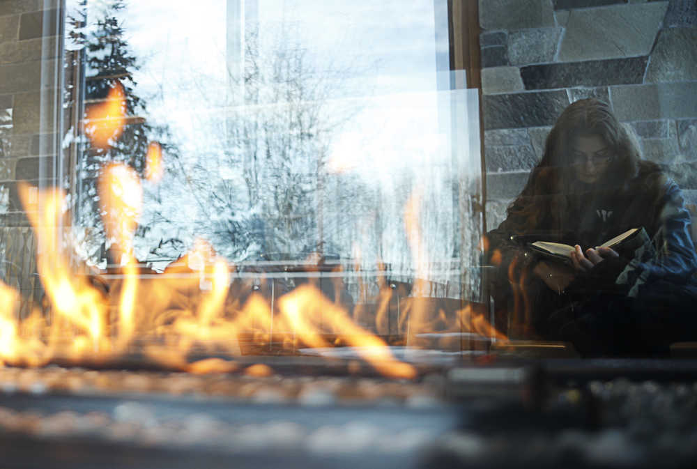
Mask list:
[{"label": "large pale slanted stone block above the long dark block", "polygon": [[558,60],[575,62],[648,55],[667,8],[667,1],[657,1],[571,10]]}]

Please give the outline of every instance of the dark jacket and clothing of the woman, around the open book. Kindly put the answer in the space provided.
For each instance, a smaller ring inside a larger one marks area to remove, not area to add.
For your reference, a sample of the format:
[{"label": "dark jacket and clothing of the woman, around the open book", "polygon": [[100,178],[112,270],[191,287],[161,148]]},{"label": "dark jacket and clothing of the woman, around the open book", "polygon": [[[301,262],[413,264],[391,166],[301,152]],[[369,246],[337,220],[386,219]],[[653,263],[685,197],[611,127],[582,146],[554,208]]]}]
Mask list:
[{"label": "dark jacket and clothing of the woman, around the open book", "polygon": [[[564,207],[557,217],[539,217],[530,227],[509,216],[488,233],[488,261],[498,264],[489,276],[498,321],[507,315],[509,323],[525,323],[545,339],[574,341],[589,354],[631,353],[647,340],[665,347],[697,337],[684,330],[695,330],[691,309],[697,300],[697,256],[680,188],[647,166],[622,191],[589,189],[563,197],[565,203],[552,204]],[[552,240],[585,249],[639,227],[645,233],[633,249],[577,274],[564,292],[551,291],[533,274],[539,257],[530,242]],[[662,323],[664,337],[643,337]],[[635,335],[636,341],[618,344],[627,335]]]}]

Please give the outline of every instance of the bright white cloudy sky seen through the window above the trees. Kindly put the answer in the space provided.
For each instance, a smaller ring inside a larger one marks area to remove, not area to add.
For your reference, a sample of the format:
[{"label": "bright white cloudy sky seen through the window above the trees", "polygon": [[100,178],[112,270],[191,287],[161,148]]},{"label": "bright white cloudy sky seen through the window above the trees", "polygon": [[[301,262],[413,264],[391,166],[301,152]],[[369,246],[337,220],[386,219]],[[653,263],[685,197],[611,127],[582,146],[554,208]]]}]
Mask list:
[{"label": "bright white cloudy sky seen through the window above the trees", "polygon": [[[92,11],[102,1],[91,0]],[[305,54],[328,89],[322,102],[328,121],[351,110],[332,135],[326,168],[378,188],[383,206],[376,210],[395,219],[392,231],[404,230],[399,219],[408,194],[398,190],[405,180],[431,201],[427,213],[457,209],[452,180],[469,185],[481,174],[477,114],[468,121],[477,95],[438,90],[437,57],[447,57],[447,45],[436,44],[436,28],[444,25],[436,24],[433,0],[254,0],[256,15],[254,3],[241,1],[245,17],[234,20],[224,0],[127,2],[122,24],[141,64],[136,92],[148,102],[148,119],[169,126],[185,164],[239,176],[236,168],[215,166],[227,141],[227,106],[244,106],[229,86],[236,57],[229,36],[258,24],[261,47],[272,50],[285,33]],[[175,188],[171,196],[181,200],[183,192]],[[197,216],[193,204],[173,210]]]}]

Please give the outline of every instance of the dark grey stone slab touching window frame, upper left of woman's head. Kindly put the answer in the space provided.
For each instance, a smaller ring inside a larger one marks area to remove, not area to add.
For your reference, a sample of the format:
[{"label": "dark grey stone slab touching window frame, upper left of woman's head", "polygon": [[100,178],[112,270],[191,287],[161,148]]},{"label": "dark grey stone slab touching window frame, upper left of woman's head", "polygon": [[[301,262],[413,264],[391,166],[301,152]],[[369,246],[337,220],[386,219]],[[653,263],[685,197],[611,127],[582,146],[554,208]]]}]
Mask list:
[{"label": "dark grey stone slab touching window frame, upper left of woman's head", "polygon": [[566,91],[484,95],[484,130],[553,125],[567,105]]}]

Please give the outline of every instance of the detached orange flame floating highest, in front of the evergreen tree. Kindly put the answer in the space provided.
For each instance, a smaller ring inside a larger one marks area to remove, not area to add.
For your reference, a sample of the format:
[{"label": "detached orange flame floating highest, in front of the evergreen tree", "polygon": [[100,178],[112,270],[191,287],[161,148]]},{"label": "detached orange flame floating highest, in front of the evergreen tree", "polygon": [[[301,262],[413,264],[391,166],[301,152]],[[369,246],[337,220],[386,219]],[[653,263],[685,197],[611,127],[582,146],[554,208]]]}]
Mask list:
[{"label": "detached orange flame floating highest, in front of the evergreen tree", "polygon": [[92,145],[107,148],[118,140],[126,117],[126,100],[123,86],[114,82],[105,102],[93,104],[85,111],[84,128]]}]

